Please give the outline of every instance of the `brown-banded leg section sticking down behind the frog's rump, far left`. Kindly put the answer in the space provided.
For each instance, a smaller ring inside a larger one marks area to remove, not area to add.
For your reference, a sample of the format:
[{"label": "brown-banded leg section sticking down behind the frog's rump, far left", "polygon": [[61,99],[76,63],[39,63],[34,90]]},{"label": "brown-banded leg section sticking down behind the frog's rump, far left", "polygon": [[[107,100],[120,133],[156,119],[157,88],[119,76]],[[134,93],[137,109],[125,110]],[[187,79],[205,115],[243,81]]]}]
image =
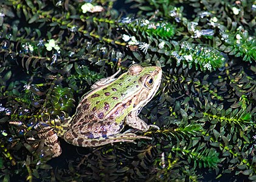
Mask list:
[{"label": "brown-banded leg section sticking down behind the frog's rump, far left", "polygon": [[60,142],[58,141],[57,133],[54,132],[52,127],[47,126],[39,130],[38,136],[40,139],[43,139],[44,144],[49,147],[49,151],[53,153],[52,157],[60,156],[62,152]]}]

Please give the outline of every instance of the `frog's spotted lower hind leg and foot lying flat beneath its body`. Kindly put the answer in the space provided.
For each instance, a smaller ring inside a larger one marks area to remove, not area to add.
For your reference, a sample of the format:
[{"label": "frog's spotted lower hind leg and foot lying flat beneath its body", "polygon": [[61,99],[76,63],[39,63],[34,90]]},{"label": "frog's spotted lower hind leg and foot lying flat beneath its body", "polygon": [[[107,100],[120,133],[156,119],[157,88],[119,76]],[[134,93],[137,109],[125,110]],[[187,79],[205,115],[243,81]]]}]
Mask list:
[{"label": "frog's spotted lower hind leg and foot lying flat beneath its body", "polygon": [[103,146],[105,144],[109,143],[117,143],[117,142],[131,142],[136,143],[135,140],[137,139],[147,139],[152,140],[151,137],[148,136],[138,136],[134,133],[119,133],[117,135],[112,135],[108,137],[100,137],[100,138],[94,138],[94,139],[88,139],[88,138],[74,138],[73,140],[65,140],[67,143],[71,143],[75,146],[80,147],[97,147],[97,146]]}]

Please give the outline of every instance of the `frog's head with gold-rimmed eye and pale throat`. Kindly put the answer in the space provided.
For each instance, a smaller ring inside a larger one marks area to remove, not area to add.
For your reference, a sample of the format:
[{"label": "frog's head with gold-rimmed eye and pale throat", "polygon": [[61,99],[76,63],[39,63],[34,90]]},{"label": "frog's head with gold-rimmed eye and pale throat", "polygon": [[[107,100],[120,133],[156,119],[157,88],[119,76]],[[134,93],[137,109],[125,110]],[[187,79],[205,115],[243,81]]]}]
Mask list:
[{"label": "frog's head with gold-rimmed eye and pale throat", "polygon": [[140,110],[145,106],[156,94],[162,79],[162,69],[158,66],[142,67],[138,64],[133,64],[129,67],[128,75],[136,76],[139,83],[137,90],[136,107],[133,110]]}]

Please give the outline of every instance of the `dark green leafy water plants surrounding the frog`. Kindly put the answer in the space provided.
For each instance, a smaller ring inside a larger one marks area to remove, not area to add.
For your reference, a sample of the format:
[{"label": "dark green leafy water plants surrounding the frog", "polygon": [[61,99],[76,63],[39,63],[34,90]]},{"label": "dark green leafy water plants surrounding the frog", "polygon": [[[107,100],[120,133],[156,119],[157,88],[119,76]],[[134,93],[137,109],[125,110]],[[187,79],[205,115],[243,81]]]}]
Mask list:
[{"label": "dark green leafy water plants surrounding the frog", "polygon": [[[255,181],[256,2],[125,2],[2,2],[0,180]],[[133,62],[164,71],[140,113],[161,128],[145,133],[153,140],[82,148],[60,139],[52,159],[40,129]]]}]

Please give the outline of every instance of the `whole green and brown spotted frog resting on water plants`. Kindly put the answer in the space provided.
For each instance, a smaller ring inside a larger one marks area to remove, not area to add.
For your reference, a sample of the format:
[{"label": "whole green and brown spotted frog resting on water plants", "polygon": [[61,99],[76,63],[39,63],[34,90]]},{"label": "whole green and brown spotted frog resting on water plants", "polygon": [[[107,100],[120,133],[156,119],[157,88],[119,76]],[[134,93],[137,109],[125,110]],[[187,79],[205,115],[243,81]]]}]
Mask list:
[{"label": "whole green and brown spotted frog resting on water plants", "polygon": [[[53,157],[61,154],[58,137],[74,146],[98,147],[151,139],[137,135],[133,130],[147,132],[151,127],[159,130],[158,126],[145,123],[138,115],[159,89],[161,67],[133,64],[116,78],[120,71],[94,83],[82,96],[72,117],[63,123],[56,122],[59,124],[55,129],[41,133],[44,143],[54,153]],[[122,132],[125,125],[131,129]]]}]

